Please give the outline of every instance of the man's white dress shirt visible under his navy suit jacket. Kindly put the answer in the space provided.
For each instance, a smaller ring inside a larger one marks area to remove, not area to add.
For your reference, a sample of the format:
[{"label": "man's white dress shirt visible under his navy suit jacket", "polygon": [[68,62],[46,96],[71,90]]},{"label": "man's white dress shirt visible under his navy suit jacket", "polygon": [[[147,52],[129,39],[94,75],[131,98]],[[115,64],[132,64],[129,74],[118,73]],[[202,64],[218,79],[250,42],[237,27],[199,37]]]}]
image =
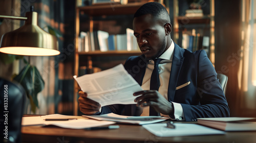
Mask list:
[{"label": "man's white dress shirt visible under his navy suit jacket", "polygon": [[[167,93],[168,93],[168,85],[169,85],[169,78],[170,78],[170,68],[172,67],[172,60],[174,54],[174,42],[170,44],[169,48],[159,57],[162,60],[159,66],[159,79],[160,79],[160,87],[158,92],[167,100]],[[143,90],[150,90],[150,79],[151,74],[154,69],[154,61],[150,60],[146,65],[145,75],[142,81],[142,89]],[[172,80],[172,79],[170,79]],[[174,120],[184,120],[184,113],[181,104],[172,102],[174,105]],[[150,106],[143,107],[143,112],[141,116],[148,116]],[[162,116],[169,117],[168,115],[161,114]]]}]

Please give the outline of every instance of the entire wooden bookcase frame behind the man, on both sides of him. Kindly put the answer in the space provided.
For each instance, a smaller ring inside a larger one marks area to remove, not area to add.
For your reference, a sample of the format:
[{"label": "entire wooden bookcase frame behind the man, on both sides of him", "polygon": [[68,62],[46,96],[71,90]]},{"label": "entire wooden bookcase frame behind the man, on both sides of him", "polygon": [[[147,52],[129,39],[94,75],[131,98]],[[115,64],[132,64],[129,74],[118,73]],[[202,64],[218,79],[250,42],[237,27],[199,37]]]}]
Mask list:
[{"label": "entire wooden bookcase frame behind the man, on both sides of him", "polygon": [[[185,0],[183,0],[185,1]],[[173,14],[173,33],[174,36],[172,39],[174,42],[178,43],[179,38],[182,38],[180,35],[180,25],[182,21],[189,19],[187,25],[200,25],[205,24],[209,26],[209,36],[210,44],[209,44],[209,59],[213,65],[215,65],[215,34],[214,34],[214,0],[209,1],[209,14],[206,14],[201,17],[186,17],[184,15],[179,15],[179,1],[166,1],[167,11]],[[145,2],[144,2],[145,3]],[[92,6],[84,6],[84,7],[76,7],[76,15],[75,15],[75,56],[74,56],[74,75],[78,75],[79,69],[79,59],[86,59],[87,65],[92,64],[94,61],[93,57],[115,57],[115,56],[133,56],[140,55],[140,51],[93,51],[93,52],[78,52],[78,37],[80,33],[80,14],[86,14],[89,16],[89,25],[88,29],[90,32],[94,30],[94,19],[96,16],[107,16],[107,15],[129,15],[134,14],[136,10],[141,7],[144,3],[129,3],[127,5],[120,4],[105,4],[105,5],[92,5]],[[181,3],[181,2],[180,2]],[[169,7],[170,6],[170,7]],[[173,7],[171,7],[173,6]],[[74,81],[74,115],[78,114],[78,90],[79,87]]]}]

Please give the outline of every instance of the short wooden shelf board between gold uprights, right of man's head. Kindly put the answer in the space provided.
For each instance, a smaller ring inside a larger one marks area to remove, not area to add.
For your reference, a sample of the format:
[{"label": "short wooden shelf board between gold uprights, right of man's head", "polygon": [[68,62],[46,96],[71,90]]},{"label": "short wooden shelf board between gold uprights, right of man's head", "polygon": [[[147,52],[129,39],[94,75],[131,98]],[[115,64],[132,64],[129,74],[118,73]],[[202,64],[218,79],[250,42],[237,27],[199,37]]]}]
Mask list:
[{"label": "short wooden shelf board between gold uprights, right of man's head", "polygon": [[182,25],[210,23],[210,16],[209,15],[204,15],[199,17],[178,16],[177,20]]}]

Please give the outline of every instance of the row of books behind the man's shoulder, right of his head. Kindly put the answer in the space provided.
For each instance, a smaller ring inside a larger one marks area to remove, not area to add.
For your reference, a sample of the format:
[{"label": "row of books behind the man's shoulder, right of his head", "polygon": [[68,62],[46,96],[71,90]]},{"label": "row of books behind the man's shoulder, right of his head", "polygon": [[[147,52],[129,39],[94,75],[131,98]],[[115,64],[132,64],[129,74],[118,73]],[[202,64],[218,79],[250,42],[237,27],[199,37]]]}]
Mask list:
[{"label": "row of books behind the man's shoulder, right of his head", "polygon": [[201,36],[200,33],[195,33],[193,30],[192,34],[183,33],[181,47],[191,52],[197,50],[205,50],[209,53],[210,38],[208,36]]}]

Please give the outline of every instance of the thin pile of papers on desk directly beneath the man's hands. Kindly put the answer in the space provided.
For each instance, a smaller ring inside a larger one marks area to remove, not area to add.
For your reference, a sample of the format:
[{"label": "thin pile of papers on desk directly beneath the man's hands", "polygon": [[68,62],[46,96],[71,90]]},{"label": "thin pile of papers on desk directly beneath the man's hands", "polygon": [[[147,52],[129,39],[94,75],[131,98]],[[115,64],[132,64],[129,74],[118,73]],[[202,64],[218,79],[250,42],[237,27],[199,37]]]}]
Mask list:
[{"label": "thin pile of papers on desk directly beneath the man's hands", "polygon": [[114,113],[103,114],[103,115],[82,115],[82,116],[92,118],[94,120],[99,120],[99,121],[113,121],[119,124],[137,124],[137,125],[158,123],[168,119],[166,117],[159,117],[159,116],[143,116],[143,117],[122,116]]}]

